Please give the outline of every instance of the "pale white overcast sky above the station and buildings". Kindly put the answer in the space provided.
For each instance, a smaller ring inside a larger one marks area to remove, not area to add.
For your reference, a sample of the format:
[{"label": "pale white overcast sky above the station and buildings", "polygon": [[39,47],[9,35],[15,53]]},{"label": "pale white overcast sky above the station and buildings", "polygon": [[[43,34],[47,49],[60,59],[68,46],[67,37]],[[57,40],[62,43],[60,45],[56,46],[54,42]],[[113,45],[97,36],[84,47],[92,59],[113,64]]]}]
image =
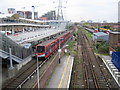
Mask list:
[{"label": "pale white overcast sky above the station and buildings", "polygon": [[[55,3],[53,3],[55,1]],[[118,2],[120,0],[62,0],[64,17],[67,20],[81,21],[93,20],[102,22],[118,21]],[[67,3],[65,2],[67,1]],[[36,6],[39,16],[50,10],[57,10],[58,0],[1,0],[0,12],[7,13],[7,8],[16,10],[32,10]]]}]

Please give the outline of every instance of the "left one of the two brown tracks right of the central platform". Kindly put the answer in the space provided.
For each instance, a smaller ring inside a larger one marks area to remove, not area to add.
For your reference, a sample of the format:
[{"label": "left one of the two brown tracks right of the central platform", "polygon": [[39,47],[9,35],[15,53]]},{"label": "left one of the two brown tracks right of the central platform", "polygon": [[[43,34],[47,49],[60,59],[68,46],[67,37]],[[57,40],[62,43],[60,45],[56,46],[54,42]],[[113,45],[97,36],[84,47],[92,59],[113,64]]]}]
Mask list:
[{"label": "left one of the two brown tracks right of the central platform", "polygon": [[[81,32],[82,33],[82,32]],[[85,37],[81,37],[82,40],[85,40]],[[97,77],[94,73],[91,61],[90,61],[90,56],[89,52],[87,50],[86,42],[83,42],[82,45],[84,45],[82,48],[82,56],[84,60],[84,71],[85,71],[85,86],[86,88],[99,88],[98,82],[97,82]],[[93,82],[93,83],[91,83]]]}]

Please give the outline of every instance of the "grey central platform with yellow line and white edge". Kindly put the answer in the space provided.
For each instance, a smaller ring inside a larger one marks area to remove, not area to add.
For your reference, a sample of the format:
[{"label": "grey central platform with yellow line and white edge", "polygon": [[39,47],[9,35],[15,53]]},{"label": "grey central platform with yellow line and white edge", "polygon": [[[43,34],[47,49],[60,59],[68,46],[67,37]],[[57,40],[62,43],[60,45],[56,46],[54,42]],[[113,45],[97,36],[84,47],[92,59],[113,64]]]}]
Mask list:
[{"label": "grey central platform with yellow line and white edge", "polygon": [[48,82],[46,88],[69,88],[74,57],[63,56]]}]

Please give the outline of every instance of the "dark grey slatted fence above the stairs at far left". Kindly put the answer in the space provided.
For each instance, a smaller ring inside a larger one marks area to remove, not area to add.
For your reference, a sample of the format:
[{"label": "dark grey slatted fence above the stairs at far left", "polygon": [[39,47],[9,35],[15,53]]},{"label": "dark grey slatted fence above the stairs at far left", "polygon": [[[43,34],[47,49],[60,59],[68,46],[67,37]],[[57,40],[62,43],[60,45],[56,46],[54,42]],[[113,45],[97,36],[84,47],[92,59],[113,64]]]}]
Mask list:
[{"label": "dark grey slatted fence above the stairs at far left", "polygon": [[27,49],[25,47],[20,46],[4,34],[0,33],[0,49],[9,53],[9,48],[11,48],[12,55],[19,57],[21,59],[25,59],[28,56],[32,55],[32,45]]}]

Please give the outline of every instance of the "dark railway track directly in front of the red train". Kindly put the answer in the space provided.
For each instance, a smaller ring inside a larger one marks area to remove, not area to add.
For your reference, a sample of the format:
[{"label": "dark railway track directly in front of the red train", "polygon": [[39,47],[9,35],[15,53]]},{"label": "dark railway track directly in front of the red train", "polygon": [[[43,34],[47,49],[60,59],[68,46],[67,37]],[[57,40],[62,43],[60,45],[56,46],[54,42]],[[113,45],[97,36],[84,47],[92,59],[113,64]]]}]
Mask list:
[{"label": "dark railway track directly in front of the red train", "polygon": [[[37,67],[37,61],[35,59],[31,60],[31,62],[28,63],[27,66],[25,66],[23,69],[21,69],[16,76],[14,76],[12,79],[10,79],[4,86],[3,90],[10,89],[10,88],[21,88],[22,84],[24,84],[27,79],[30,78],[31,74],[36,72]],[[39,61],[39,66],[42,64],[42,61]]]}]

